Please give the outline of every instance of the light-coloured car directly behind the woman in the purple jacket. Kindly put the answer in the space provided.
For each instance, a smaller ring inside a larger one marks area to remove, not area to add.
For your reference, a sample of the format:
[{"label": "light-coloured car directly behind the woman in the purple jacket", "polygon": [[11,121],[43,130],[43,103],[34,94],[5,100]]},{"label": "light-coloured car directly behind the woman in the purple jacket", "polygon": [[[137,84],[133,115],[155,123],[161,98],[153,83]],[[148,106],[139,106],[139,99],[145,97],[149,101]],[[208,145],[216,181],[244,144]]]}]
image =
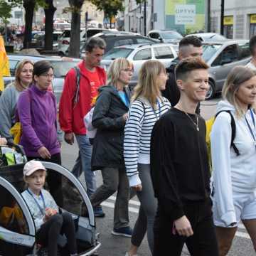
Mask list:
[{"label": "light-coloured car directly behind the woman in the purple jacket", "polygon": [[53,91],[56,96],[57,102],[60,100],[60,95],[63,91],[65,75],[68,70],[77,65],[81,60],[76,58],[59,57],[59,56],[44,56],[44,55],[18,55],[9,54],[9,66],[10,66],[10,77],[4,77],[4,85],[14,81],[15,70],[18,62],[23,59],[29,59],[33,62],[38,60],[48,60],[53,65],[54,79],[53,79]]}]

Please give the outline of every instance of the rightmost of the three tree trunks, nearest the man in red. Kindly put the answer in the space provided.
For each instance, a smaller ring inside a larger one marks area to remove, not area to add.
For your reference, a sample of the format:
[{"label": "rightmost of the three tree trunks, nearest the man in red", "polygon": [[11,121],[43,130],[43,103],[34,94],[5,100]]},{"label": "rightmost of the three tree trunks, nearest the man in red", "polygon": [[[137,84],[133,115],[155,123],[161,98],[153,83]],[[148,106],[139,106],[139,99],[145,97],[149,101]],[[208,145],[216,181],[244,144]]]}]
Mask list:
[{"label": "rightmost of the three tree trunks, nearest the man in red", "polygon": [[72,10],[71,31],[70,31],[70,48],[68,55],[70,57],[80,57],[80,23],[81,23],[81,7],[84,0],[68,0]]}]

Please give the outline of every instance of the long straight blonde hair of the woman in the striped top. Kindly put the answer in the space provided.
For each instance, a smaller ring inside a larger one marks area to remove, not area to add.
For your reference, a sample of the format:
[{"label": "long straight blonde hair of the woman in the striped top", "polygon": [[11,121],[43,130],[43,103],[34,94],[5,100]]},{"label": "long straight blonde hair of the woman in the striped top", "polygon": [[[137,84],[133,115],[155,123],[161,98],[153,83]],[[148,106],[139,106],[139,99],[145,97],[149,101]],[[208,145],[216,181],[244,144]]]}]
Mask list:
[{"label": "long straight blonde hair of the woman in the striped top", "polygon": [[156,106],[156,100],[161,97],[158,77],[166,68],[159,60],[146,60],[139,70],[138,84],[134,87],[132,102],[138,97],[144,97],[152,107]]}]

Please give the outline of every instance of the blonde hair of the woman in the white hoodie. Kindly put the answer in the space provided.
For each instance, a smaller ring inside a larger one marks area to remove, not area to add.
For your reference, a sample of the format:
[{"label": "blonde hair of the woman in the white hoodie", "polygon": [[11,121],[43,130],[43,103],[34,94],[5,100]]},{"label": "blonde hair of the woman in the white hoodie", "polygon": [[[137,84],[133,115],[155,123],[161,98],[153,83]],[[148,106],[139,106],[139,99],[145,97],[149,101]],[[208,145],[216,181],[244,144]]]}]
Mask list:
[{"label": "blonde hair of the woman in the white hoodie", "polygon": [[233,68],[225,80],[222,90],[223,99],[228,100],[228,102],[235,107],[237,117],[242,117],[244,113],[238,103],[236,93],[243,82],[250,80],[255,75],[255,70],[251,70],[250,68],[245,68],[240,65]]}]

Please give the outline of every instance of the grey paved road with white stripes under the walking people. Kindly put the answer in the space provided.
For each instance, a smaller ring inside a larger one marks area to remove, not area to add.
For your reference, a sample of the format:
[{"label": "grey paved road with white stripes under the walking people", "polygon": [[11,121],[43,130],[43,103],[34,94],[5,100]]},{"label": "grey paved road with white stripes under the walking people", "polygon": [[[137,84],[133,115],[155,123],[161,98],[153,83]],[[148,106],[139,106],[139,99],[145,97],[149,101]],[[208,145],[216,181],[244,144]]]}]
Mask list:
[{"label": "grey paved road with white stripes under the walking people", "polygon": [[[215,108],[219,100],[220,99],[218,97],[214,100],[202,102],[201,114],[205,119],[209,119],[214,115]],[[75,157],[78,153],[78,146],[68,146],[68,144],[63,143],[62,150],[63,166],[71,169],[74,164]],[[100,185],[102,183],[100,171],[97,171],[96,175],[97,184]],[[83,177],[81,177],[81,181],[83,181]],[[102,203],[103,209],[106,213],[106,217],[96,219],[97,231],[100,233],[100,242],[102,242],[102,247],[99,250],[101,256],[124,256],[127,248],[129,247],[129,238],[120,238],[111,235],[114,200],[115,196],[111,196],[107,201]],[[137,198],[133,198],[133,200],[129,201],[129,216],[132,227],[137,219],[138,210],[139,201],[137,200]],[[139,249],[139,256],[149,255],[150,252],[145,238],[142,246]],[[167,254],[166,256],[169,255],[171,255],[171,248],[170,254]],[[183,256],[185,255],[189,255],[186,248],[184,248],[183,250]],[[238,228],[238,233],[235,237],[235,240],[233,241],[233,246],[228,256],[255,256],[252,242],[250,241],[249,235],[247,234],[242,224]]]}]

